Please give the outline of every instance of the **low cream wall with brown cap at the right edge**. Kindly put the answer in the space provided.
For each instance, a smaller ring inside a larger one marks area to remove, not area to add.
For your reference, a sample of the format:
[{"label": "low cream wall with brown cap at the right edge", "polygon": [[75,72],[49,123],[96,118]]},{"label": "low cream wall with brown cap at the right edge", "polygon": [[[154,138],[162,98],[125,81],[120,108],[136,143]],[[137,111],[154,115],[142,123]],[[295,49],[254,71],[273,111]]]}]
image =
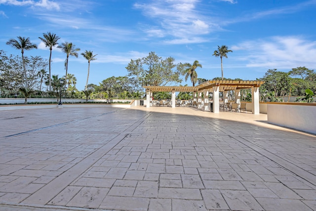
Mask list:
[{"label": "low cream wall with brown cap at the right edge", "polygon": [[316,134],[316,103],[268,102],[268,123]]}]

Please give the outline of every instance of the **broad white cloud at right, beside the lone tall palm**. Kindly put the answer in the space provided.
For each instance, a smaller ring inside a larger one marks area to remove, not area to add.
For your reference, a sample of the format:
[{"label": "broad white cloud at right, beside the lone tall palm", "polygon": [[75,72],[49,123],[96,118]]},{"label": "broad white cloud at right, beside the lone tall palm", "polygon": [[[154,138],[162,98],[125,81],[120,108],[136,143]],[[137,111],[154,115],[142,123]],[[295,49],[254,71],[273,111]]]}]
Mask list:
[{"label": "broad white cloud at right, beside the lone tall palm", "polygon": [[316,42],[300,37],[272,37],[266,40],[242,42],[232,46],[243,56],[246,67],[291,69],[300,66],[315,66]]}]

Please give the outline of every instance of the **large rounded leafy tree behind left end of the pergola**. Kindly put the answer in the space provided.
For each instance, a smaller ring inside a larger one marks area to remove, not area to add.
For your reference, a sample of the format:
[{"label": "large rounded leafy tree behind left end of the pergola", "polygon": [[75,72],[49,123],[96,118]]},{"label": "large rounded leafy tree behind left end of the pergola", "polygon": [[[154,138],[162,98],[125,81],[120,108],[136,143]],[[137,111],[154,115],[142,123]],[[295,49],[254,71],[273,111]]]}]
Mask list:
[{"label": "large rounded leafy tree behind left end of the pergola", "polygon": [[[168,57],[161,59],[155,52],[150,52],[147,57],[136,60],[131,59],[128,66],[125,67],[128,72],[128,77],[135,84],[135,89],[140,90],[144,85],[158,86],[169,83],[180,83],[179,78],[181,68],[175,65],[174,58]],[[177,70],[173,70],[177,67]]]}]

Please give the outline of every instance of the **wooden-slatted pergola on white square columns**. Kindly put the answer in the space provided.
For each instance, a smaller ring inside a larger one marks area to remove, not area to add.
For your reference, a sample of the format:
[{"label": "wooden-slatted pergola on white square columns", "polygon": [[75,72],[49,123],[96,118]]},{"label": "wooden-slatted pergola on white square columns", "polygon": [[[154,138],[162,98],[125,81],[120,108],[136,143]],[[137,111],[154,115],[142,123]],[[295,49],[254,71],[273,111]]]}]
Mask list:
[{"label": "wooden-slatted pergola on white square columns", "polygon": [[[220,110],[220,97],[219,92],[223,92],[224,102],[228,101],[228,92],[235,91],[235,103],[240,106],[240,89],[251,88],[251,105],[252,113],[259,114],[259,87],[264,84],[263,81],[234,81],[234,80],[213,80],[207,81],[197,86],[144,86],[146,88],[147,105],[150,107],[150,100],[152,99],[153,92],[166,91],[171,92],[171,107],[176,107],[176,92],[193,92],[193,101],[197,103],[204,103],[204,110],[209,111],[209,98],[210,92],[213,93],[213,112],[219,113]],[[202,99],[202,93],[204,98]]]}]

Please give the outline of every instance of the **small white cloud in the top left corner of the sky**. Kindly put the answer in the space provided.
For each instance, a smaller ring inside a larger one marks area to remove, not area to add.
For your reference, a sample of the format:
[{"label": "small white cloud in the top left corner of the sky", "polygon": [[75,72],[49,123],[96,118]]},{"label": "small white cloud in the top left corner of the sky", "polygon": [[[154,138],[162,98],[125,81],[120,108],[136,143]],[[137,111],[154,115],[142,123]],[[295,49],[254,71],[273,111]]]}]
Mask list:
[{"label": "small white cloud in the top left corner of the sky", "polygon": [[14,6],[33,6],[33,7],[43,7],[46,9],[56,9],[59,10],[59,4],[50,1],[50,0],[0,0],[0,4],[8,4],[8,5],[14,5]]}]

